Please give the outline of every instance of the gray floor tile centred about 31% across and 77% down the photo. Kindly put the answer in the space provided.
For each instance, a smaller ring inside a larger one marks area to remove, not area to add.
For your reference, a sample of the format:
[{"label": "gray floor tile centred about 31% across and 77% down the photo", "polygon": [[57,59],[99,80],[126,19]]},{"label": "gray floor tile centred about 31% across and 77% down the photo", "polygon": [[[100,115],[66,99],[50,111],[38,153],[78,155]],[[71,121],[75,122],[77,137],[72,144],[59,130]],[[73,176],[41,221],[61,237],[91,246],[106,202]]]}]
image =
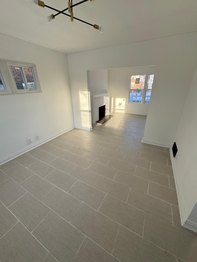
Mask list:
[{"label": "gray floor tile centred about 31% across and 77% down the photo", "polygon": [[46,196],[42,198],[42,202],[59,216],[66,219],[66,221],[70,221],[71,217],[81,205],[81,201],[57,187],[54,187],[46,194]]}]

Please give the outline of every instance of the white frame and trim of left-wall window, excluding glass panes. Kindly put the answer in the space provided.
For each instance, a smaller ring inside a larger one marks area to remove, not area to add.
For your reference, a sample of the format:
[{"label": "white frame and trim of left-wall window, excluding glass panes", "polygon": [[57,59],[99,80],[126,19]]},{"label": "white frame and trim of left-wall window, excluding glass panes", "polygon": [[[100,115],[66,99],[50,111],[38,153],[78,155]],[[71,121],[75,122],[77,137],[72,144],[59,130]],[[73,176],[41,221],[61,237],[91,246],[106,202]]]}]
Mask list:
[{"label": "white frame and trim of left-wall window, excluding glass panes", "polygon": [[[11,70],[10,66],[16,66],[16,67],[21,67],[25,84],[27,89],[17,89],[16,82],[14,80],[14,76]],[[29,89],[24,68],[28,68],[32,70],[32,74],[34,77],[34,83],[36,88],[35,89]],[[38,73],[36,70],[36,65],[35,64],[29,64],[29,63],[22,63],[22,62],[16,62],[16,61],[9,61],[9,60],[3,60],[0,59],[0,72],[2,76],[2,81],[4,83],[4,87],[6,88],[6,91],[0,92],[0,95],[8,95],[8,94],[29,94],[29,93],[41,93],[41,88],[40,88],[40,83],[38,80]]]}]

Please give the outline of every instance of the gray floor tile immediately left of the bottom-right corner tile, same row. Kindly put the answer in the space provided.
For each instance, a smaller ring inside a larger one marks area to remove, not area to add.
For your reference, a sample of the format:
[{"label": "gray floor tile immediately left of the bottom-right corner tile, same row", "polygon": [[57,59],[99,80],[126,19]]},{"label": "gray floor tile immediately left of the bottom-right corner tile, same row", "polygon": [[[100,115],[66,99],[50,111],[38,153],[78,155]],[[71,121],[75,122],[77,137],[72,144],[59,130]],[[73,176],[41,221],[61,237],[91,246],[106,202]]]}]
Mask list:
[{"label": "gray floor tile immediately left of the bottom-right corner tile, same row", "polygon": [[145,212],[107,195],[99,212],[142,236]]}]

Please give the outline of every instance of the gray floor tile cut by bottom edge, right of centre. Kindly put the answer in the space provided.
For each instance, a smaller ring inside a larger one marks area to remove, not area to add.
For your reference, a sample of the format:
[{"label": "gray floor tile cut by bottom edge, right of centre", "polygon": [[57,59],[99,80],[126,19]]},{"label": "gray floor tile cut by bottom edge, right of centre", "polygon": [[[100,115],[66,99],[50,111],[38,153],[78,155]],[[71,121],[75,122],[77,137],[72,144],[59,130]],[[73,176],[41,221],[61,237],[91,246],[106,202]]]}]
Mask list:
[{"label": "gray floor tile cut by bottom edge, right of centre", "polygon": [[112,255],[124,262],[176,262],[176,257],[120,226]]}]

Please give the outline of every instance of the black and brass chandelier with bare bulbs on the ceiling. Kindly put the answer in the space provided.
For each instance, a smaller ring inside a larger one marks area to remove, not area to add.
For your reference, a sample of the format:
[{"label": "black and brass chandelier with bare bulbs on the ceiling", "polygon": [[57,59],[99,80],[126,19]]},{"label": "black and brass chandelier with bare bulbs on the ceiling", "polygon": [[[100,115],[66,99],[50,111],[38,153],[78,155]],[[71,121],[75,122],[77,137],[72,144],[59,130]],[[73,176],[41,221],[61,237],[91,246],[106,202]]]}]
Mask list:
[{"label": "black and brass chandelier with bare bulbs on the ceiling", "polygon": [[[78,5],[80,5],[80,4],[84,3],[84,2],[87,2],[87,1],[89,1],[89,0],[83,0],[83,1],[81,1],[81,2],[73,5],[73,1],[72,1],[72,0],[69,0],[69,2],[68,2],[68,7],[65,8],[65,9],[62,10],[62,11],[57,10],[57,9],[55,9],[55,8],[53,8],[53,7],[47,6],[47,5],[45,5],[44,2],[42,2],[42,1],[40,1],[40,0],[33,0],[32,2],[33,2],[35,5],[38,5],[38,6],[41,6],[41,7],[47,7],[47,8],[50,8],[50,9],[58,12],[57,14],[51,14],[51,15],[48,16],[48,21],[49,21],[49,22],[53,21],[57,15],[59,15],[59,14],[64,14],[64,15],[70,17],[70,21],[71,21],[71,22],[73,22],[74,19],[76,19],[76,20],[81,21],[81,22],[83,22],[83,23],[85,23],[85,24],[87,24],[87,25],[93,26],[94,29],[97,29],[100,33],[103,33],[103,30],[104,30],[103,26],[98,26],[98,25],[95,25],[95,24],[92,25],[92,24],[90,24],[90,23],[88,23],[88,22],[85,22],[85,21],[83,21],[83,20],[81,20],[81,19],[76,18],[76,17],[73,16],[73,7],[74,7],[74,6],[78,6]],[[93,1],[94,1],[94,0],[90,0],[90,2],[93,2]],[[64,12],[67,11],[67,10],[68,10],[68,13],[69,13],[69,14],[64,13]]]}]

